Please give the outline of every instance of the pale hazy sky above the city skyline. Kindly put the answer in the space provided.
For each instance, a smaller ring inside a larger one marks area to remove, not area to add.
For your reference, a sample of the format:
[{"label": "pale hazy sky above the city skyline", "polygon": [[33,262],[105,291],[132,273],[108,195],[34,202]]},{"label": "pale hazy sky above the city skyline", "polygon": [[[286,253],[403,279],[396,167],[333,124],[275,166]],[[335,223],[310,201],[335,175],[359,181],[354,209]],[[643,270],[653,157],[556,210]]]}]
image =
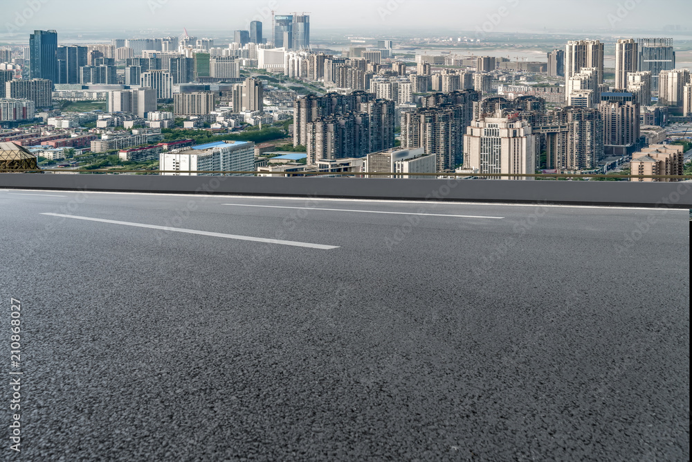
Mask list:
[{"label": "pale hazy sky above the city skyline", "polygon": [[[527,30],[692,29],[690,0],[0,0],[0,39],[33,29],[181,31],[246,28],[277,14],[310,12],[316,32],[358,29],[371,34],[406,28],[515,32]],[[364,30],[365,29],[365,30]]]}]

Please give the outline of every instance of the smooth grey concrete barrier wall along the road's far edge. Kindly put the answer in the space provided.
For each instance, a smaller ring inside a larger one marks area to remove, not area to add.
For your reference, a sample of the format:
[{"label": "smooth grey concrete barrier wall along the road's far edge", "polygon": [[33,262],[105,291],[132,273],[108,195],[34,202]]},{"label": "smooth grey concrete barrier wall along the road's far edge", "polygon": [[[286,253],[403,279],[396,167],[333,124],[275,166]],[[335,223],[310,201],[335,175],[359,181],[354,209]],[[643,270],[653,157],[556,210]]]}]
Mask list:
[{"label": "smooth grey concrete barrier wall along the road's far edge", "polygon": [[692,182],[0,173],[0,188],[692,208]]}]

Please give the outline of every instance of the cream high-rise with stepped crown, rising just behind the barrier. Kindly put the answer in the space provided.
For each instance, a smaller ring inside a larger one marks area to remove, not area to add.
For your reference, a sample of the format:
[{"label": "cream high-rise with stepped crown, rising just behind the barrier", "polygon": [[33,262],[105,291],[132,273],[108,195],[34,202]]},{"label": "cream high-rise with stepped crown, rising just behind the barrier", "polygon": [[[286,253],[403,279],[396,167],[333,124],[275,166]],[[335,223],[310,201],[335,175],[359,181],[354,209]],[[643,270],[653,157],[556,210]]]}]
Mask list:
[{"label": "cream high-rise with stepped crown, rising just behind the barrier", "polygon": [[[498,111],[493,117],[480,118],[466,128],[464,135],[464,167],[478,174],[507,174],[501,179],[536,172],[536,135],[527,121]],[[496,178],[496,177],[495,177]]]}]

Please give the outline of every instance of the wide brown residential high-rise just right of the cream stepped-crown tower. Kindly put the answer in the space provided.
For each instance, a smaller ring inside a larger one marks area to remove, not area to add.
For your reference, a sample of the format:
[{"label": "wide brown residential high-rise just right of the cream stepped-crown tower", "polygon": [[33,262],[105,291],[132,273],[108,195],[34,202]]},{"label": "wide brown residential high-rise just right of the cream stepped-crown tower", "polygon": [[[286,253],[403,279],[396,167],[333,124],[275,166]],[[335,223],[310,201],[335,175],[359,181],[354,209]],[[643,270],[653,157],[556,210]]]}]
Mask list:
[{"label": "wide brown residential high-rise just right of the cream stepped-crown tower", "polygon": [[603,118],[598,109],[553,109],[538,118],[532,132],[545,146],[546,168],[589,170],[603,159]]}]

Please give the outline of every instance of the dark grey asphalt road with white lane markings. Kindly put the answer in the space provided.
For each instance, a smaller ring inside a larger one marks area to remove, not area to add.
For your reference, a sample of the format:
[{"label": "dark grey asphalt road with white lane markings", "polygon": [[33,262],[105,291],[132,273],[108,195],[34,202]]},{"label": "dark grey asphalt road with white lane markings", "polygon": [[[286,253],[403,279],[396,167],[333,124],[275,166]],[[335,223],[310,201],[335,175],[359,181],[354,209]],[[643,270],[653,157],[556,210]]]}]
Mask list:
[{"label": "dark grey asphalt road with white lane markings", "polygon": [[0,214],[0,459],[21,371],[28,461],[689,460],[686,211],[23,190]]}]

